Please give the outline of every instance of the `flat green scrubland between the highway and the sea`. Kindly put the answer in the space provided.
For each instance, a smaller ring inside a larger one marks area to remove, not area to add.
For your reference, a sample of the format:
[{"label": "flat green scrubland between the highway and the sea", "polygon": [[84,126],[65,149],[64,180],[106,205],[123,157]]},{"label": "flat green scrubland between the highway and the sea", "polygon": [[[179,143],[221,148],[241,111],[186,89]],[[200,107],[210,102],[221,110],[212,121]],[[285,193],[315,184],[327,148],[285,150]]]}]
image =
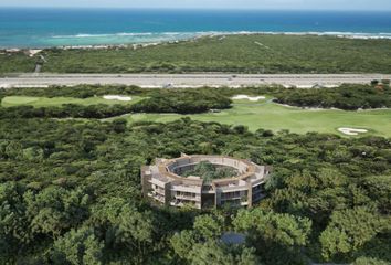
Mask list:
[{"label": "flat green scrubland between the highway and the sea", "polygon": [[[54,73],[391,73],[390,46],[391,40],[258,34],[41,54],[46,61],[42,71]],[[40,55],[0,54],[0,73],[33,72]]]}]

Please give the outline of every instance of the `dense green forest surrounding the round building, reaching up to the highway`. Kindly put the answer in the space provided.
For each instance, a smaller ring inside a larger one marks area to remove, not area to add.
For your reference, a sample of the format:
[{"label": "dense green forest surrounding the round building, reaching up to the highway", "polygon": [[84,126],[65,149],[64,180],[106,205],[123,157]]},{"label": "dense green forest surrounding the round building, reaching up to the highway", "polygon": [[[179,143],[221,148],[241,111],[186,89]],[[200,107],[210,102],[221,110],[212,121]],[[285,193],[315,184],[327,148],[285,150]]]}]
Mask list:
[{"label": "dense green forest surrounding the round building, reaching up to the highway", "polygon": [[[352,87],[357,93],[349,95]],[[145,97],[129,105],[130,112],[194,113],[229,108],[230,96],[240,92],[356,109],[379,102],[389,107],[389,89],[346,85],[315,96],[281,87],[78,86],[3,89],[0,98],[89,98],[110,92]],[[103,121],[128,105],[102,105],[108,109],[102,115],[101,105],[91,106],[0,107],[0,264],[391,263],[390,138],[250,131],[190,118]],[[52,115],[52,108],[77,109],[83,119]],[[142,198],[140,167],[181,152],[272,166],[265,199],[253,209],[199,211],[161,208]],[[222,235],[230,232],[245,235],[245,243],[224,243]]]}]

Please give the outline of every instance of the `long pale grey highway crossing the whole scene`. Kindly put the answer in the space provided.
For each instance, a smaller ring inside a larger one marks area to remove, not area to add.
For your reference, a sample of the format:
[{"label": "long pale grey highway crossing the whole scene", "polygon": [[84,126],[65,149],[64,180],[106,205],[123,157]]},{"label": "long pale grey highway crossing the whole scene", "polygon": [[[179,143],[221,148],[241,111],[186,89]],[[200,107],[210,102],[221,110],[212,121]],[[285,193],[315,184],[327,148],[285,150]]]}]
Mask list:
[{"label": "long pale grey highway crossing the whole scene", "polygon": [[382,74],[21,74],[0,78],[0,87],[74,86],[80,84],[137,85],[140,87],[253,86],[279,84],[313,87],[342,83],[369,84],[372,80],[390,80]]}]

